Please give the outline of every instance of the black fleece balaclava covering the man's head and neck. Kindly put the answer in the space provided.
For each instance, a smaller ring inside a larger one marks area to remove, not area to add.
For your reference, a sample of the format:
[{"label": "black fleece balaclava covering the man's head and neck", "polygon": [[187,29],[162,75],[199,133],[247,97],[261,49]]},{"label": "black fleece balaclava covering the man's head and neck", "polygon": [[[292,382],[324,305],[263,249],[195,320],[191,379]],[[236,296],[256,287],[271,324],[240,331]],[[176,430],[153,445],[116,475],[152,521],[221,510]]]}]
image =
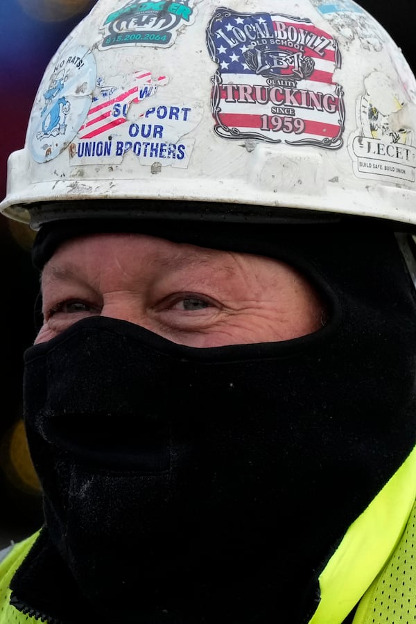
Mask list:
[{"label": "black fleece balaclava covering the man's head and neck", "polygon": [[[71,236],[125,229],[44,226],[35,264]],[[415,444],[416,306],[395,235],[137,231],[291,263],[328,322],[198,349],[89,318],[29,348],[24,414],[45,523],[12,603],[64,624],[307,622],[320,571]]]}]

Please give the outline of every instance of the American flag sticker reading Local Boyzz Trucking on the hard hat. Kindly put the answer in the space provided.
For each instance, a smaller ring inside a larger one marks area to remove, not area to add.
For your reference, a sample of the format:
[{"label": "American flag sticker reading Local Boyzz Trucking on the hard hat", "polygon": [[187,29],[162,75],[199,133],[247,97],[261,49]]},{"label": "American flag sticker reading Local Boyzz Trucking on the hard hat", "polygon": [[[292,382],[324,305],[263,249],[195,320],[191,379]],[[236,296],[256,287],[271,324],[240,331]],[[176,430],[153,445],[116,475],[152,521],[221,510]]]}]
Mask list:
[{"label": "American flag sticker reading Local Boyzz Trucking on the hard hat", "polygon": [[343,87],[336,40],[309,19],[218,8],[207,29],[214,130],[226,139],[343,145]]}]

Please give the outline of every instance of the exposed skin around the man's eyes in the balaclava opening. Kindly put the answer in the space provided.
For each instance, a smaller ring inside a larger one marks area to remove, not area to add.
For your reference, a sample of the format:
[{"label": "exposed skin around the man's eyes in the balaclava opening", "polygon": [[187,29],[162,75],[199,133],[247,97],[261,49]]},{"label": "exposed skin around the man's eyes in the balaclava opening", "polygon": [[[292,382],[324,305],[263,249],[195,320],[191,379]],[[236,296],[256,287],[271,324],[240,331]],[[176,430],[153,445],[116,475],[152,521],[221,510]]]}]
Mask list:
[{"label": "exposed skin around the man's eyes in the balaclava opening", "polygon": [[67,241],[44,267],[42,297],[36,343],[92,315],[189,347],[290,340],[324,318],[318,293],[284,262],[142,234]]}]

